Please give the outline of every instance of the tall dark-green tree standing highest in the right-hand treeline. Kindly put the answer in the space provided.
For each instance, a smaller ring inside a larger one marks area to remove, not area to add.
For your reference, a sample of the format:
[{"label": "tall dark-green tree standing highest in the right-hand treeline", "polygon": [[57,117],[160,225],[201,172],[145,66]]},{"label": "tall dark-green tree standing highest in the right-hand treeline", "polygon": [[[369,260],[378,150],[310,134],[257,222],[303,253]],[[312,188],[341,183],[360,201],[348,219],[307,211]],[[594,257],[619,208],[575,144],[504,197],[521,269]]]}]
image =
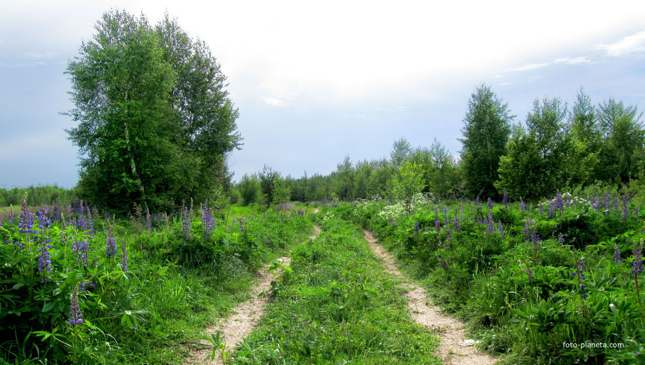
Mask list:
[{"label": "tall dark-green tree standing highest in the right-hand treeline", "polygon": [[497,181],[499,160],[506,153],[506,141],[511,132],[508,104],[502,103],[490,86],[481,84],[468,101],[464,117],[464,138],[461,164],[470,197],[498,197]]}]

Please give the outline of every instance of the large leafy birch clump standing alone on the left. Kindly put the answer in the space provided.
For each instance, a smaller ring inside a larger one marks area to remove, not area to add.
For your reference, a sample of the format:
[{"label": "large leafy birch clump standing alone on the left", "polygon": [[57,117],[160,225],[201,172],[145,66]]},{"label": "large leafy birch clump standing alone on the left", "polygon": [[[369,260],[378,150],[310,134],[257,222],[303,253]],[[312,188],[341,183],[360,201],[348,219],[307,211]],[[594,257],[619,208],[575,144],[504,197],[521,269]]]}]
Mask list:
[{"label": "large leafy birch clump standing alone on the left", "polygon": [[137,202],[168,210],[215,195],[224,156],[239,146],[237,110],[208,47],[168,15],[152,28],[143,15],[110,10],[70,61],[78,126],[79,192],[121,212]]}]

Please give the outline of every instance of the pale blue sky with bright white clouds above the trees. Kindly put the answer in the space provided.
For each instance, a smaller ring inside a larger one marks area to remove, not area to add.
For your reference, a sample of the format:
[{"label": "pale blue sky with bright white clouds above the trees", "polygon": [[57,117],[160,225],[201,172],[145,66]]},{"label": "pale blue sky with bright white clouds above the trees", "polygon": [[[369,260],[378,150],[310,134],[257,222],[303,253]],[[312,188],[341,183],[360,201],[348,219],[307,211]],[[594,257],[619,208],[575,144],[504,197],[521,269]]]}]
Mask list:
[{"label": "pale blue sky with bright white clouds above the trees", "polygon": [[177,17],[239,108],[234,179],[264,164],[327,174],[395,139],[456,157],[481,83],[523,122],[536,98],[645,107],[645,1],[0,0],[0,186],[78,181],[64,74],[110,8]]}]

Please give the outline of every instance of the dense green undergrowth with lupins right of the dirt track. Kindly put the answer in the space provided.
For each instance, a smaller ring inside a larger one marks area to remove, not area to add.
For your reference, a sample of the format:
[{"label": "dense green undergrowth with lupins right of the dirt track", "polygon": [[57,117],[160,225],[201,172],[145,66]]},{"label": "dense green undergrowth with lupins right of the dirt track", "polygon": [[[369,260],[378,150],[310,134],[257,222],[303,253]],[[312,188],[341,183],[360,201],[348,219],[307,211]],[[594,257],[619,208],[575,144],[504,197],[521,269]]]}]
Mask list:
[{"label": "dense green undergrowth with lupins right of the dirt track", "polygon": [[[402,221],[379,213],[379,202],[332,212],[376,230],[436,301],[468,320],[488,350],[506,354],[502,363],[635,364],[645,342],[642,274],[631,271],[645,239],[635,214],[641,206],[627,198],[623,206],[614,192],[598,194],[593,204],[564,195],[552,213],[517,203],[488,212],[464,202],[448,202],[445,213],[415,208]],[[504,233],[497,225],[490,230],[490,218],[504,223]],[[581,347],[588,343],[607,347]]]}]

